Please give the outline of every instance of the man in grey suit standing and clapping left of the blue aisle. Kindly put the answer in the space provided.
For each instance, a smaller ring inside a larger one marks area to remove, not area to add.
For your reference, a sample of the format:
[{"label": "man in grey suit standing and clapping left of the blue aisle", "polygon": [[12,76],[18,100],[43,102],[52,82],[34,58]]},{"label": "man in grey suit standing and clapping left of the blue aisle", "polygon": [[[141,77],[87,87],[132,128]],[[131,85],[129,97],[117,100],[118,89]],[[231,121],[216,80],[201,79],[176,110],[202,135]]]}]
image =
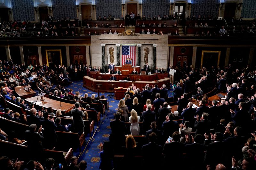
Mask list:
[{"label": "man in grey suit standing and clapping left of the blue aisle", "polygon": [[84,132],[84,113],[81,111],[79,102],[75,103],[75,107],[75,109],[71,110],[71,114],[73,116],[72,128],[76,133],[82,134]]}]

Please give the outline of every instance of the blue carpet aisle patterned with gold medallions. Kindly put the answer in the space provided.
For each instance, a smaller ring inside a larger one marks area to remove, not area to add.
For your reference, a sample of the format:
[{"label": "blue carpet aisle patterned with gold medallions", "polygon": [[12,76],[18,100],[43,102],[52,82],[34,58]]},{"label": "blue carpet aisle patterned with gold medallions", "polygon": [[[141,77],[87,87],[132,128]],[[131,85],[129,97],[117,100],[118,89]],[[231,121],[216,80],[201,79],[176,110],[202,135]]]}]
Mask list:
[{"label": "blue carpet aisle patterned with gold medallions", "polygon": [[[73,82],[73,84],[66,87],[67,89],[72,88],[73,92],[80,92],[81,96],[84,96],[85,93],[88,93],[88,96],[91,96],[92,93],[95,94],[95,97],[97,97],[96,92],[92,92],[86,88],[83,87],[83,81],[77,81]],[[92,137],[91,141],[89,142],[88,146],[86,147],[85,151],[80,155],[79,160],[85,160],[87,162],[87,169],[99,169],[99,163],[100,163],[100,142],[104,143],[105,141],[108,141],[108,137],[111,133],[110,128],[110,121],[114,120],[114,115],[117,111],[117,104],[119,100],[114,100],[114,98],[107,97],[109,93],[100,93],[101,95],[105,95],[106,100],[109,101],[109,110],[106,110],[106,116],[101,116],[101,124],[100,127],[97,129],[95,135]],[[172,91],[168,90],[168,96],[172,96]],[[94,129],[97,128],[97,125],[94,126]],[[89,136],[86,137],[86,140],[88,141],[90,139]],[[74,155],[77,155],[77,151],[74,152]]]}]

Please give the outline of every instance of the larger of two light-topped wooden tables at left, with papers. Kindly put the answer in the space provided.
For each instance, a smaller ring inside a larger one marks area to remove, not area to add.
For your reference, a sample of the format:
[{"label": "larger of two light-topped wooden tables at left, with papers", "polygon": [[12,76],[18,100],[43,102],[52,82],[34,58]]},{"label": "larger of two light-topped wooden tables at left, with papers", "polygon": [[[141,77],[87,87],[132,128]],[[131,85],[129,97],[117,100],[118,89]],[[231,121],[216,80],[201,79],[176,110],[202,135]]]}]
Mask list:
[{"label": "larger of two light-topped wooden tables at left, with papers", "polygon": [[[38,97],[40,99],[40,97]],[[36,96],[35,97],[31,97],[31,98],[28,98],[28,99],[25,99],[27,102],[31,103],[33,101],[37,101],[37,98]],[[49,108],[49,107],[52,107],[52,109],[54,111],[58,110],[58,109],[61,109],[61,112],[62,113],[67,113],[69,112],[72,108],[75,107],[74,104],[70,104],[70,103],[64,103],[64,102],[61,102],[61,107],[60,107],[60,101],[58,100],[52,100],[52,99],[49,99],[47,97],[44,97],[44,101],[42,101],[42,103],[40,104],[35,104],[34,105],[36,106],[43,106],[44,108]]]}]

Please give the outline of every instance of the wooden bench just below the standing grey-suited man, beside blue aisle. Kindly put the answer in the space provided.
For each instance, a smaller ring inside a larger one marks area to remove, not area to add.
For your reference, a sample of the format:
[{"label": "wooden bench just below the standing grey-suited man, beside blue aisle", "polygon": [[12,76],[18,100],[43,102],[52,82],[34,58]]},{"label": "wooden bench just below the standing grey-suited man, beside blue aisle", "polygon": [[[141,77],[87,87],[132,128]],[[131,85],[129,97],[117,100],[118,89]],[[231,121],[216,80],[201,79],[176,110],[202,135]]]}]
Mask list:
[{"label": "wooden bench just below the standing grey-suited man, beside blue aisle", "polygon": [[56,148],[60,148],[61,150],[67,148],[78,148],[81,150],[81,146],[85,142],[84,132],[79,135],[74,132],[60,132],[56,131],[58,136],[58,143]]}]

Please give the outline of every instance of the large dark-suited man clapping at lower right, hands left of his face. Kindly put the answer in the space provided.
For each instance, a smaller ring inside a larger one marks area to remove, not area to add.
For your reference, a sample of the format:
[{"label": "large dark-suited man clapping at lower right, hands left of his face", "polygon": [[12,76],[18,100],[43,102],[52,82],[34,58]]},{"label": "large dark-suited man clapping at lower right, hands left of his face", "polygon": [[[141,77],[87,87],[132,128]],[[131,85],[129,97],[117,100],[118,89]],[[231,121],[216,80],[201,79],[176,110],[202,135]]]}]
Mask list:
[{"label": "large dark-suited man clapping at lower right, hands left of his face", "polygon": [[227,146],[225,142],[223,142],[223,134],[215,132],[214,135],[211,134],[211,138],[207,134],[204,136],[204,146],[206,147],[204,164],[215,167],[219,163],[225,163],[224,160]]}]

